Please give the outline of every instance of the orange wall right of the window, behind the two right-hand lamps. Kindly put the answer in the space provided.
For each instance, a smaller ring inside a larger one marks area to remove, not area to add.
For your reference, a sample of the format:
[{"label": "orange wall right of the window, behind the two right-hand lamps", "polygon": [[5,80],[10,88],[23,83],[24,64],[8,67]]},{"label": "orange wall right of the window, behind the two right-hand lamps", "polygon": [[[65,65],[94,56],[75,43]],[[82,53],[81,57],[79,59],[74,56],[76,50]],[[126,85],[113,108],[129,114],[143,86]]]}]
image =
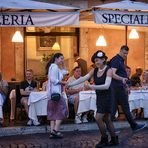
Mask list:
[{"label": "orange wall right of the window, behind the two right-hand lamps", "polygon": [[[104,29],[103,35],[106,39],[106,47],[97,47],[96,41],[102,31],[95,28],[81,28],[81,43],[80,43],[80,56],[88,61],[88,67],[90,67],[91,56],[97,50],[103,50],[106,52],[108,59],[111,59],[114,55],[119,52],[122,45],[125,44],[125,31],[124,30],[114,30],[114,29]],[[138,32],[140,38],[137,40],[129,40],[128,46],[130,48],[127,65],[132,69],[132,73],[135,72],[136,67],[148,68],[147,61],[144,60],[145,49],[147,49],[147,41],[144,32]],[[129,34],[129,32],[128,32]],[[144,64],[145,63],[145,64]]]}]

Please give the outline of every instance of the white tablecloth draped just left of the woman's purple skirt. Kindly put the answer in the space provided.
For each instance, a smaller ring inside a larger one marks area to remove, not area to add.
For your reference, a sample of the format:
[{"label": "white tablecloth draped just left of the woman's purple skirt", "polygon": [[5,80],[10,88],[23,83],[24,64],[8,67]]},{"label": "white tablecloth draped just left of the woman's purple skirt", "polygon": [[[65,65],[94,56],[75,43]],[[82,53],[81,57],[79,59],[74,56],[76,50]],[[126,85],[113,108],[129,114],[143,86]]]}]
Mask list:
[{"label": "white tablecloth draped just left of the woman's purple skirt", "polygon": [[28,100],[29,118],[38,122],[38,115],[47,115],[47,103],[46,91],[31,92]]}]

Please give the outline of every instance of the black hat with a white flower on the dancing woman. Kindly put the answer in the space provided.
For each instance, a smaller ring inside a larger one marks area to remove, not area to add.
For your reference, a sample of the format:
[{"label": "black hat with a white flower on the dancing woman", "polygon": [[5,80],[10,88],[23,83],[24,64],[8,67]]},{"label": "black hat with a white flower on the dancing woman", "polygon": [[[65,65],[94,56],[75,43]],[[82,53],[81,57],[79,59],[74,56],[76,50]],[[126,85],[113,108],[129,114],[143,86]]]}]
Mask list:
[{"label": "black hat with a white flower on the dancing woman", "polygon": [[93,56],[91,57],[91,61],[93,62],[93,63],[95,63],[95,59],[96,58],[100,58],[100,59],[105,59],[105,60],[107,60],[107,56],[106,56],[106,54],[105,54],[105,52],[103,52],[102,50],[98,50],[97,52],[95,52],[94,54],[93,54]]}]

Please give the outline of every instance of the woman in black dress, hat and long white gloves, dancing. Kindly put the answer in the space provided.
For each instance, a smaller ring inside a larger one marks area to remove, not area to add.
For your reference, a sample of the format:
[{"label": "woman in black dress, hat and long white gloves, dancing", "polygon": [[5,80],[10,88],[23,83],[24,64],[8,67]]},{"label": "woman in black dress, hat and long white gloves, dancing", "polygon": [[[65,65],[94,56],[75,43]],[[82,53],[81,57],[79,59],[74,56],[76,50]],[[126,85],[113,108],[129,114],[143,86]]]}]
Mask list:
[{"label": "woman in black dress, hat and long white gloves, dancing", "polygon": [[[101,50],[98,50],[91,58],[91,61],[95,63],[96,68],[92,69],[87,75],[74,81],[68,86],[74,86],[82,83],[91,77],[94,78],[94,85],[85,85],[86,88],[94,89],[96,91],[96,122],[101,132],[101,140],[96,144],[96,148],[106,145],[113,146],[118,144],[118,136],[115,135],[114,126],[110,118],[111,113],[111,81],[112,70],[107,66],[107,56]],[[106,126],[105,126],[106,125]],[[108,142],[108,135],[106,133],[106,127],[109,129],[111,136],[110,142]]]}]

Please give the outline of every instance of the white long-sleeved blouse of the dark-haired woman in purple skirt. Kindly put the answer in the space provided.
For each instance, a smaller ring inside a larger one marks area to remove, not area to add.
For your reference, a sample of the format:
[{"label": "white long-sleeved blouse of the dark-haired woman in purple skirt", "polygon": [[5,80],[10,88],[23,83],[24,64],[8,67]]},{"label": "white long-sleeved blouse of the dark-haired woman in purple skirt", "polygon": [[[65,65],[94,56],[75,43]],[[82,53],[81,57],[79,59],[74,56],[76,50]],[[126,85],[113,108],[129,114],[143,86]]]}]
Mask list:
[{"label": "white long-sleeved blouse of the dark-haired woman in purple skirt", "polygon": [[48,70],[48,88],[47,94],[50,99],[51,93],[62,94],[61,84],[58,82],[63,79],[68,71],[66,69],[60,69],[57,64],[53,63]]}]

